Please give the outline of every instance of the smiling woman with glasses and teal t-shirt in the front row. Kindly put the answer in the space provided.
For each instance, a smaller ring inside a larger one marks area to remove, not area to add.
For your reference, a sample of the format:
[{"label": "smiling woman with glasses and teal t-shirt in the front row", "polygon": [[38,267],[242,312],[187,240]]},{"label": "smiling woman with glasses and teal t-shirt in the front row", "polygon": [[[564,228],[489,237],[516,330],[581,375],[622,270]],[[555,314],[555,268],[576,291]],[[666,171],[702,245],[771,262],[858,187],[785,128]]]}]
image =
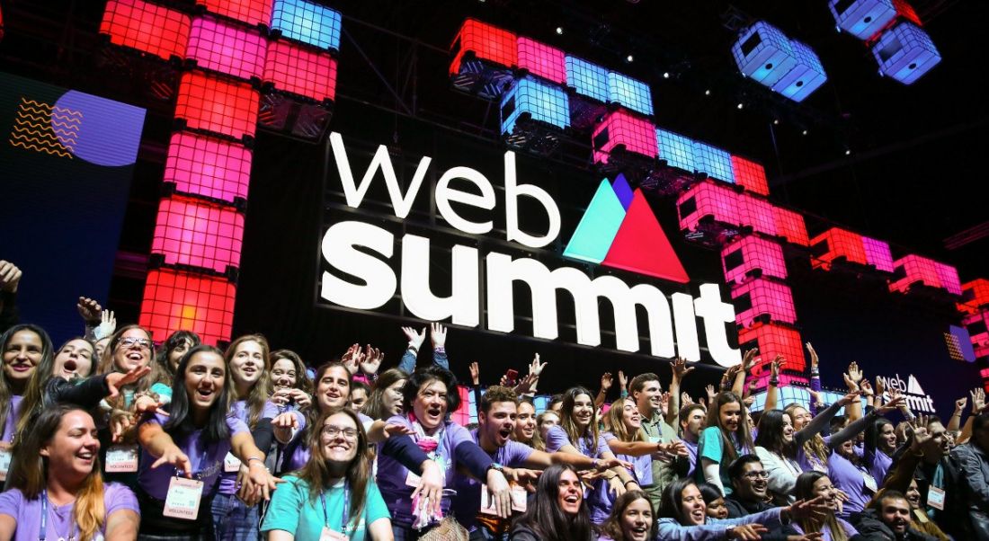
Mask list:
[{"label": "smiling woman with glasses and teal t-shirt in the front row", "polygon": [[391,541],[388,507],[371,477],[367,434],[357,414],[331,407],[314,426],[314,458],[275,491],[261,531],[268,541],[319,541],[326,529],[350,541]]}]

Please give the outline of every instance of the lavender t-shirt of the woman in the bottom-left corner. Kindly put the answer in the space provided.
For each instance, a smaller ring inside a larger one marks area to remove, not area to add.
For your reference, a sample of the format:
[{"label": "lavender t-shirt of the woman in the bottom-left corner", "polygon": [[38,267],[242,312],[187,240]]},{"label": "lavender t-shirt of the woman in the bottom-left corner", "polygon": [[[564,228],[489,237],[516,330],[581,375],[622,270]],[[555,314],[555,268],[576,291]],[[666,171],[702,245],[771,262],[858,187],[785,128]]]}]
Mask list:
[{"label": "lavender t-shirt of the woman in the bottom-left corner", "polygon": [[[137,507],[137,498],[131,489],[118,483],[107,483],[103,486],[103,504],[107,509],[105,517],[109,517],[116,511],[134,511],[140,515]],[[73,516],[73,506],[75,502],[64,505],[53,505],[50,501],[47,504],[47,520],[45,521],[45,537],[66,539],[73,534],[78,539],[78,527]],[[12,516],[17,521],[14,530],[13,541],[38,541],[41,538],[42,529],[42,496],[34,499],[27,499],[18,489],[11,489],[0,494],[0,514]],[[107,521],[103,521],[106,528]],[[106,530],[101,530],[106,534]]]}]

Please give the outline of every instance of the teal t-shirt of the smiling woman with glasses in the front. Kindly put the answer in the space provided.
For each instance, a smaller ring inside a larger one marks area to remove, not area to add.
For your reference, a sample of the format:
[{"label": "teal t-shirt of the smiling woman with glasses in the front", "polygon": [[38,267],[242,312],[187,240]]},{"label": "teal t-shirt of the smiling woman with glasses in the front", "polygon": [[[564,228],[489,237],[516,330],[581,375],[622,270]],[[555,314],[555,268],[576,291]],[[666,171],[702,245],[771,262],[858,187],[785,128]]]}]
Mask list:
[{"label": "teal t-shirt of the smiling woman with glasses in the front", "polygon": [[[324,515],[319,497],[313,500],[309,496],[308,482],[296,476],[286,476],[283,479],[286,483],[279,485],[271,496],[271,504],[268,506],[268,512],[264,515],[264,521],[261,523],[262,532],[284,530],[294,534],[296,541],[319,541],[319,533],[322,532],[322,527],[327,520],[330,529],[342,530],[342,483],[331,487],[324,493],[326,499],[326,513]],[[382,518],[391,518],[391,515],[388,513],[388,507],[385,506],[385,499],[378,491],[378,485],[369,481],[364,499],[364,512],[361,513],[361,520],[356,528],[353,526],[353,517],[347,518],[351,522],[351,526],[347,530],[350,541],[363,541],[367,534],[367,524],[373,524]]]}]

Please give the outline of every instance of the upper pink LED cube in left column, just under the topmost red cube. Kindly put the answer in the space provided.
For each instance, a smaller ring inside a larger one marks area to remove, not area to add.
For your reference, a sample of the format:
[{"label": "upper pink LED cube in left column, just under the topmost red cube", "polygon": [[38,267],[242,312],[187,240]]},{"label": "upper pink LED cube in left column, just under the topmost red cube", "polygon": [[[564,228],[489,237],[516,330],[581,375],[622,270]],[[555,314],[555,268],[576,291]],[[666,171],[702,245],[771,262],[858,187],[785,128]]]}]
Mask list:
[{"label": "upper pink LED cube in left column, just under the topmost red cube", "polygon": [[212,17],[192,22],[188,56],[199,67],[241,79],[260,77],[267,40],[255,30],[225,25]]}]

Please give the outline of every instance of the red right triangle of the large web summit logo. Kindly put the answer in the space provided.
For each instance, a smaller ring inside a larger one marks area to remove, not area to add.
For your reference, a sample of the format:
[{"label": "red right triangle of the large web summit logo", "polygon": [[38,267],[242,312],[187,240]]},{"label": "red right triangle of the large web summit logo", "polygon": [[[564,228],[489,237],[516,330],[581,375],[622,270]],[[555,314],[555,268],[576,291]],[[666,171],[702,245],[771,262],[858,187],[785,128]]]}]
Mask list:
[{"label": "red right triangle of the large web summit logo", "polygon": [[656,221],[653,209],[640,190],[635,191],[625,220],[601,264],[681,284],[690,281],[667,233]]}]

